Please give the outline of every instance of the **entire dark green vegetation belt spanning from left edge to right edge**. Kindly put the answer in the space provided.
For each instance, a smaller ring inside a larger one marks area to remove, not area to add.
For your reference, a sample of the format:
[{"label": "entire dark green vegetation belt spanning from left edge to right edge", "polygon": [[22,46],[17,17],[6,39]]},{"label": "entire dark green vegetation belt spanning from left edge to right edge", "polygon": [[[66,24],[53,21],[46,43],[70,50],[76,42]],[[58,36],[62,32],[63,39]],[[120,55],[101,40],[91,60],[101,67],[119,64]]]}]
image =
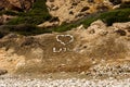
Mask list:
[{"label": "entire dark green vegetation belt spanning from left edge to right edge", "polygon": [[[121,4],[125,7],[126,4]],[[122,8],[121,7],[121,8]],[[49,14],[46,0],[37,0],[32,5],[32,9],[28,12],[12,12],[12,11],[1,11],[0,14],[17,15],[18,17],[13,18],[6,23],[8,27],[5,28],[8,33],[18,33],[22,35],[38,35],[43,33],[52,32],[66,32],[70,30],[74,27],[83,24],[84,27],[90,26],[90,24],[96,20],[102,20],[110,26],[115,22],[129,22],[130,21],[130,8],[117,9],[103,13],[94,13],[86,16],[77,22],[73,23],[63,23],[60,26],[51,28],[39,28],[36,25],[50,21],[52,16]],[[8,34],[5,33],[5,34]],[[0,30],[0,37],[4,36]]]}]

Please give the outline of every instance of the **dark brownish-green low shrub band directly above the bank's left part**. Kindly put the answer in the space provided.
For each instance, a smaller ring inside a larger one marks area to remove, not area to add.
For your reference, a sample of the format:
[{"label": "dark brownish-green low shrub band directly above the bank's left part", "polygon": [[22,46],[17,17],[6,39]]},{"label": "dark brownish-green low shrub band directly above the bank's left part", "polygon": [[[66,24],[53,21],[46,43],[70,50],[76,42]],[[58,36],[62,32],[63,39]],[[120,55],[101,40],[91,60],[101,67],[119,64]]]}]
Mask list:
[{"label": "dark brownish-green low shrub band directly above the bank's left part", "polygon": [[39,28],[36,27],[36,25],[31,25],[31,24],[4,25],[3,27],[0,27],[0,37],[3,37],[10,33],[30,36],[30,35],[51,33],[51,30],[46,28]]}]

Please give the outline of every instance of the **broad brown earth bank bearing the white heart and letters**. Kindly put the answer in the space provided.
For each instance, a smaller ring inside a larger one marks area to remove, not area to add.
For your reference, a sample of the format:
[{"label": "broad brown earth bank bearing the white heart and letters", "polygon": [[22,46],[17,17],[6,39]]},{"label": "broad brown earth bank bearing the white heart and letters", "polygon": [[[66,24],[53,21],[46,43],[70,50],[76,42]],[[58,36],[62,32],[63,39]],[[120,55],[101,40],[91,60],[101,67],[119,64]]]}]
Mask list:
[{"label": "broad brown earth bank bearing the white heart and letters", "polygon": [[106,26],[99,20],[88,28],[81,25],[66,33],[27,37],[11,34],[0,39],[0,50],[6,58],[0,58],[1,64],[10,60],[5,67],[18,73],[50,73],[86,72],[102,60],[129,62],[129,25],[130,22]]}]

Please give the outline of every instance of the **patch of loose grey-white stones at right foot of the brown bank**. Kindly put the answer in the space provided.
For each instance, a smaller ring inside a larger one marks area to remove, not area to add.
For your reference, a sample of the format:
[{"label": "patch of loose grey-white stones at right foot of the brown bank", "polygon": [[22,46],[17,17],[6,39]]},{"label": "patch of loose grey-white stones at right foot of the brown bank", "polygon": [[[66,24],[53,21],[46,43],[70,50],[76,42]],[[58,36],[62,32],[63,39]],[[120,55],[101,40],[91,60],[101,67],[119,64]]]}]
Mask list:
[{"label": "patch of loose grey-white stones at right foot of the brown bank", "polygon": [[125,63],[120,65],[102,65],[98,64],[90,69],[92,75],[96,76],[103,76],[103,75],[108,75],[108,76],[116,76],[116,75],[130,75],[130,63]]}]

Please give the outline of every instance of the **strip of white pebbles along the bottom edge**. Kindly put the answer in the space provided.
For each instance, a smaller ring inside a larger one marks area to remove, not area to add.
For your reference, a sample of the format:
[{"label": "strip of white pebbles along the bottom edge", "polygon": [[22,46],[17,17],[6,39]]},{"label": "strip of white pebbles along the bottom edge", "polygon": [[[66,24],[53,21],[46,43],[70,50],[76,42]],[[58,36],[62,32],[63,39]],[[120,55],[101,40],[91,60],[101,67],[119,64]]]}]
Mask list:
[{"label": "strip of white pebbles along the bottom edge", "polygon": [[130,87],[130,78],[115,79],[86,79],[86,78],[66,78],[66,79],[21,79],[5,77],[0,78],[0,87]]}]

